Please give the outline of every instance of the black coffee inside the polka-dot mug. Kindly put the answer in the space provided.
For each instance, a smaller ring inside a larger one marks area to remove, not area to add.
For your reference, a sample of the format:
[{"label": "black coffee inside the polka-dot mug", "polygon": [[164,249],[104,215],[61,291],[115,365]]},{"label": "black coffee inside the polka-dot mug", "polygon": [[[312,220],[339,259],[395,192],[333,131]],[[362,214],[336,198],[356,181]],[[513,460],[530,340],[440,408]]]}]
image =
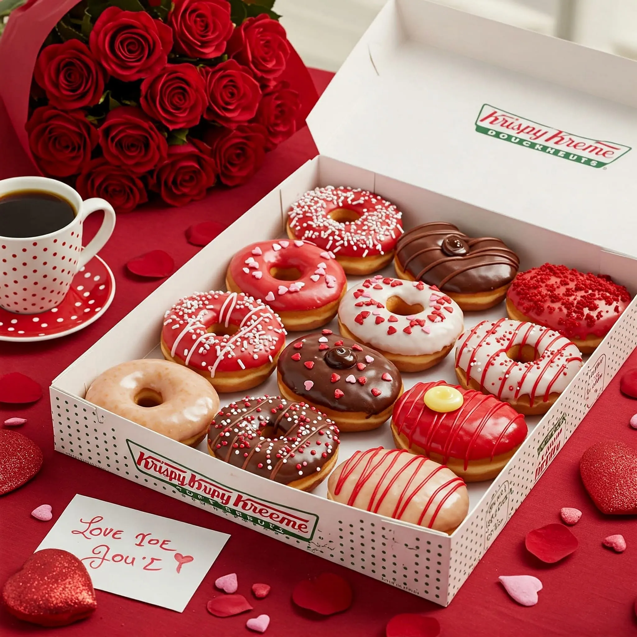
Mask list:
[{"label": "black coffee inside the polka-dot mug", "polygon": [[19,190],[0,195],[0,236],[37,237],[54,233],[75,218],[75,208],[52,192]]}]

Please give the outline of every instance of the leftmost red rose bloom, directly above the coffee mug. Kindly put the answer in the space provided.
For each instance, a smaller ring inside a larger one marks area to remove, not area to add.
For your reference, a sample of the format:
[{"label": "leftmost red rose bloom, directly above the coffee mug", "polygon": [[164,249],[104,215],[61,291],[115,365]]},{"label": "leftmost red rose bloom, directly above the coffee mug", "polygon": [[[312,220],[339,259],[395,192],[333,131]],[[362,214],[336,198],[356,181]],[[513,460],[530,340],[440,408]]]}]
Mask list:
[{"label": "leftmost red rose bloom, directly above the coffee mug", "polygon": [[99,138],[84,111],[59,111],[50,106],[36,108],[25,128],[38,166],[55,177],[79,173]]}]

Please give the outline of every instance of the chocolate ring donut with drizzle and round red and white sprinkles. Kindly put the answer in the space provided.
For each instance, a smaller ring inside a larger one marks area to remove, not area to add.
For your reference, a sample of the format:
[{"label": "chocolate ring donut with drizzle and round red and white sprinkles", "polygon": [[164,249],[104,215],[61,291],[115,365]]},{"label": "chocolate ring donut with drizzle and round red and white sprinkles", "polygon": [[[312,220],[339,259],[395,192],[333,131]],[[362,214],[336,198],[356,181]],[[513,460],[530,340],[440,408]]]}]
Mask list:
[{"label": "chocolate ring donut with drizzle and round red and white sprinkles", "polygon": [[338,445],[338,427],[326,415],[279,396],[231,403],[208,429],[210,455],[303,491],[327,478]]}]

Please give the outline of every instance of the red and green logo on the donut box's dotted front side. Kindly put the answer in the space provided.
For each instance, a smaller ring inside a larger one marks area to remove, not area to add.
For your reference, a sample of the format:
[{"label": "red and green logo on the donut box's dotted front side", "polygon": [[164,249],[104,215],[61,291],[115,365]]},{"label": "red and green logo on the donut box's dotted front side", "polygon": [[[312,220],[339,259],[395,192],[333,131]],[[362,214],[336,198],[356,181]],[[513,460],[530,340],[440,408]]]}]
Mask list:
[{"label": "red and green logo on the donut box's dotted front side", "polygon": [[171,485],[185,496],[273,533],[282,533],[299,540],[309,541],[313,538],[318,515],[230,489],[132,440],[126,440],[126,443],[138,471]]}]

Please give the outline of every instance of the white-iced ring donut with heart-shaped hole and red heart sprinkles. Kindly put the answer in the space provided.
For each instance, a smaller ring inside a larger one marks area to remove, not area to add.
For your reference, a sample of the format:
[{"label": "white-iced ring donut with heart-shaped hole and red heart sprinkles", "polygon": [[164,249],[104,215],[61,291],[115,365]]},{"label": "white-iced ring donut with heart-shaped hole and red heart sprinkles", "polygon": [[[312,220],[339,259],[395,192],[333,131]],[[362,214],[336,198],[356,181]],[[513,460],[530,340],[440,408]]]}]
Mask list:
[{"label": "white-iced ring donut with heart-shaped hole and red heart sprinkles", "polygon": [[378,350],[400,371],[433,367],[464,330],[462,310],[437,287],[381,275],[347,291],[338,324],[343,336]]}]

